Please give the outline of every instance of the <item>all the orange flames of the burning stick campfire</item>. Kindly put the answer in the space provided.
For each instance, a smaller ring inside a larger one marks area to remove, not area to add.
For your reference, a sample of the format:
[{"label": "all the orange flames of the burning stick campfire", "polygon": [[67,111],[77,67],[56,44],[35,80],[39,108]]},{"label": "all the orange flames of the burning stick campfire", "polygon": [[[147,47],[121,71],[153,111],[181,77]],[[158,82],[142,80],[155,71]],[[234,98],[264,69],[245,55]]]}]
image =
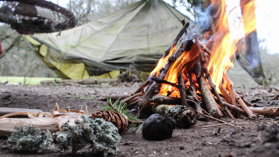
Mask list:
[{"label": "all the orange flames of the burning stick campfire", "polygon": [[[213,22],[211,23],[213,35],[210,37],[209,40],[207,39],[208,43],[210,43],[211,45],[210,47],[212,52],[210,57],[208,57],[208,59],[210,60],[208,61],[207,68],[209,73],[211,74],[212,82],[216,85],[217,91],[220,92],[219,86],[221,85],[223,74],[226,73],[230,67],[233,67],[233,63],[231,62],[230,57],[235,54],[237,50],[236,43],[238,41],[233,39],[230,34],[225,0],[211,0],[211,4],[214,11],[216,11],[216,14],[214,16],[214,19],[212,20]],[[249,16],[251,12],[254,13],[255,11],[254,0],[246,3],[246,5],[243,5],[242,8],[244,31],[248,34],[251,31],[256,30],[255,16],[253,16],[255,14]],[[206,37],[209,37],[209,35],[206,35]],[[152,77],[157,77],[159,75],[160,69],[165,66],[169,57],[171,57],[174,52],[174,47],[171,47],[168,56],[160,59],[156,68],[151,72]],[[177,59],[174,64],[171,65],[166,73],[164,80],[177,84],[177,72],[180,67],[183,67],[183,78],[184,80],[186,80],[188,77],[188,70],[192,68],[191,66],[193,66],[197,60],[197,49],[195,46],[192,46],[189,51],[183,52],[181,57]],[[198,84],[196,84],[196,77],[193,75],[192,78],[194,81],[194,86],[198,87]],[[224,85],[225,84],[226,82],[224,82]],[[185,81],[185,85],[189,85],[189,80]],[[168,91],[171,91],[170,96],[180,97],[179,90],[167,84],[162,84],[159,94],[167,95]],[[200,91],[197,91],[197,93],[200,93]]]}]

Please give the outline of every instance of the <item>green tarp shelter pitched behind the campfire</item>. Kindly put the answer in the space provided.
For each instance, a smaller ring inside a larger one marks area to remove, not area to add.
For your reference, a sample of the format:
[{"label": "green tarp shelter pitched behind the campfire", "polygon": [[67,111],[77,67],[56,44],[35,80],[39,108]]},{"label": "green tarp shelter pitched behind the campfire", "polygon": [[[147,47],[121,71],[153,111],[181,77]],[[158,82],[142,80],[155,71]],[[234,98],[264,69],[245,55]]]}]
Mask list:
[{"label": "green tarp shelter pitched behind the campfire", "polygon": [[183,27],[183,18],[190,21],[162,0],[142,0],[73,29],[25,38],[61,78],[128,68],[152,71]]}]

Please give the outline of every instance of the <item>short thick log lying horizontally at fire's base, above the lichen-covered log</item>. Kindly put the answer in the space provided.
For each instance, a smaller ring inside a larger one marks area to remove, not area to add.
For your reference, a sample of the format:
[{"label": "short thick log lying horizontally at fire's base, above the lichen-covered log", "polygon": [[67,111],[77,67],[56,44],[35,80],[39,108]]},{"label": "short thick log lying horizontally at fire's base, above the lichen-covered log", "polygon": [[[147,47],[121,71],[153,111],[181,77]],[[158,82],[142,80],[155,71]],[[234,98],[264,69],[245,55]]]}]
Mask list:
[{"label": "short thick log lying horizontally at fire's base, above the lichen-covered log", "polygon": [[181,98],[157,94],[150,99],[152,103],[164,105],[181,105]]}]

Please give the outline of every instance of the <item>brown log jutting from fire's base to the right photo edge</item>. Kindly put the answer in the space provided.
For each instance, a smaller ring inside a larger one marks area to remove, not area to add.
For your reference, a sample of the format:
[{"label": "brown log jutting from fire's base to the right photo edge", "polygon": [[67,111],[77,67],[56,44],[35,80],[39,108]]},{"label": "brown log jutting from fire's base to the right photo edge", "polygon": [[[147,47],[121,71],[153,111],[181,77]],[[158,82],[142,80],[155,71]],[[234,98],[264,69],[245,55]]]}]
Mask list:
[{"label": "brown log jutting from fire's base to the right photo edge", "polygon": [[279,116],[279,107],[248,107],[252,112],[263,115],[264,117]]}]

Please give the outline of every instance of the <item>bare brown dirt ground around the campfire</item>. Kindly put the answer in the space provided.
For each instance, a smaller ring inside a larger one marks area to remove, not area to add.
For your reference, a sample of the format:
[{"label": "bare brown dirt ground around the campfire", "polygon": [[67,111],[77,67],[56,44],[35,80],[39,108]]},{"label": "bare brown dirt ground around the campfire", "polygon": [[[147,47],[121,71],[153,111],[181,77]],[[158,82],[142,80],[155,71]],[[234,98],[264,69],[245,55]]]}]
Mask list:
[{"label": "bare brown dirt ground around the campfire", "polygon": [[[41,109],[49,112],[58,103],[59,107],[70,107],[79,109],[79,105],[87,105],[88,112],[95,113],[102,109],[98,99],[110,94],[131,94],[137,84],[118,84],[111,86],[101,84],[92,86],[85,85],[39,85],[39,86],[12,86],[0,85],[0,107]],[[278,100],[269,100],[272,96],[279,94],[275,88],[237,89],[250,101],[259,106],[279,106]],[[131,112],[133,113],[133,112]],[[136,114],[136,113],[134,113]],[[145,118],[146,119],[146,118]],[[143,119],[143,120],[145,120]],[[271,140],[263,140],[262,135],[266,132],[260,130],[257,125],[269,126],[279,123],[279,118],[262,118],[257,121],[249,119],[223,119],[232,122],[239,129],[229,125],[199,128],[218,124],[216,121],[198,121],[190,128],[176,127],[172,137],[161,141],[149,141],[138,134],[121,135],[119,151],[116,156],[205,156],[205,157],[236,157],[236,156],[279,156],[279,130],[273,131]],[[217,133],[220,128],[220,132]],[[265,134],[264,134],[265,133]],[[266,137],[266,136],[265,136]],[[56,156],[102,156],[92,154],[90,150],[82,149],[76,154],[71,151],[63,151],[49,154],[30,154],[25,152],[13,152],[6,144],[6,138],[0,138],[0,156],[34,156],[34,157],[56,157]],[[110,154],[109,156],[113,156]]]}]

